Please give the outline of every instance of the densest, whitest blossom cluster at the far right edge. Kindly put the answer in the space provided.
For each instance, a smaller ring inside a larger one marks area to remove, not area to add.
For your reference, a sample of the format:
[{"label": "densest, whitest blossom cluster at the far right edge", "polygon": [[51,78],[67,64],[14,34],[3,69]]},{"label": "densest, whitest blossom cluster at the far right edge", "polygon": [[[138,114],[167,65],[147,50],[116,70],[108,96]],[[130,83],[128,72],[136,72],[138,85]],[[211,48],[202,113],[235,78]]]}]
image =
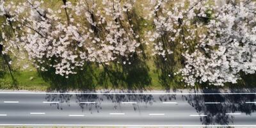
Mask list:
[{"label": "densest, whitest blossom cluster at the far right edge", "polygon": [[[256,4],[228,3],[218,6],[206,25],[208,35],[192,54],[186,54],[181,70],[190,84],[237,83],[239,72],[256,70]],[[199,79],[197,79],[199,78]]]}]

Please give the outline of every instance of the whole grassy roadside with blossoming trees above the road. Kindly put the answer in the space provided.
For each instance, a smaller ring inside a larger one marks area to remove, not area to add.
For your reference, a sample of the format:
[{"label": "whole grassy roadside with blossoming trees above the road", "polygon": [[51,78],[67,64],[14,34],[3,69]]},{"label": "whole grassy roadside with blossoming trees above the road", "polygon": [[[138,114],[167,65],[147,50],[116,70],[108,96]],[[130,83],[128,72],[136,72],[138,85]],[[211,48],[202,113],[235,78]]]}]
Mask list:
[{"label": "whole grassy roadside with blossoming trees above the road", "polygon": [[1,89],[256,85],[252,0],[0,2]]}]

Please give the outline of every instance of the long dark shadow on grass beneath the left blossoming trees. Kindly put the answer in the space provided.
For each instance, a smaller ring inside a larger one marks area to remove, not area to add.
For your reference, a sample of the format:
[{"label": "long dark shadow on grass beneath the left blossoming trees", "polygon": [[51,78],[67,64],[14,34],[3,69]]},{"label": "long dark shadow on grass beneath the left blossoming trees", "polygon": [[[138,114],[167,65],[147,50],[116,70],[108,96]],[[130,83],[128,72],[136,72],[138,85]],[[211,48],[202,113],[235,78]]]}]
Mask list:
[{"label": "long dark shadow on grass beneath the left blossoming trees", "polygon": [[77,70],[77,74],[68,76],[68,79],[55,74],[54,68],[48,71],[38,70],[44,81],[50,84],[48,91],[67,92],[70,90],[93,91],[97,88],[142,90],[151,83],[149,68],[145,61],[138,56],[130,60],[131,65],[113,64],[103,65],[103,68],[88,63],[84,70]]}]

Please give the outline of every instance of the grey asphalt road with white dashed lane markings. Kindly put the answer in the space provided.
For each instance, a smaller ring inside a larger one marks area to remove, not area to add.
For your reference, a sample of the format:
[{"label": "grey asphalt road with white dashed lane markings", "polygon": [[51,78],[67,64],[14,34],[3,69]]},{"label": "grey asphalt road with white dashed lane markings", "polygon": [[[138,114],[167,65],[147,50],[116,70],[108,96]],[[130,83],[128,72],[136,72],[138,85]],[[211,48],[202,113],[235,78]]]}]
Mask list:
[{"label": "grey asphalt road with white dashed lane markings", "polygon": [[0,93],[0,125],[256,125],[253,94]]}]

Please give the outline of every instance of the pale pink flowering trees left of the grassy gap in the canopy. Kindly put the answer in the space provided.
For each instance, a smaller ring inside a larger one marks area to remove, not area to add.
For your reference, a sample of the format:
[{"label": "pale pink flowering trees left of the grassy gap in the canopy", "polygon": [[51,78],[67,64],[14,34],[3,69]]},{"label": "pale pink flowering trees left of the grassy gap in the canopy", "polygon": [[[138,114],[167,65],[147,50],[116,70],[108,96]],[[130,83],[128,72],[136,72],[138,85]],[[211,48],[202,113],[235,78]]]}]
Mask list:
[{"label": "pale pink flowering trees left of the grassy gap in the canopy", "polygon": [[68,77],[88,61],[129,59],[140,46],[132,22],[126,22],[131,20],[129,13],[134,1],[62,2],[60,10],[52,10],[44,6],[44,1],[1,0],[0,15],[8,15],[2,28],[15,29],[12,38],[3,36],[3,53],[10,52],[10,47],[24,49],[40,70],[53,67],[56,74]]}]

